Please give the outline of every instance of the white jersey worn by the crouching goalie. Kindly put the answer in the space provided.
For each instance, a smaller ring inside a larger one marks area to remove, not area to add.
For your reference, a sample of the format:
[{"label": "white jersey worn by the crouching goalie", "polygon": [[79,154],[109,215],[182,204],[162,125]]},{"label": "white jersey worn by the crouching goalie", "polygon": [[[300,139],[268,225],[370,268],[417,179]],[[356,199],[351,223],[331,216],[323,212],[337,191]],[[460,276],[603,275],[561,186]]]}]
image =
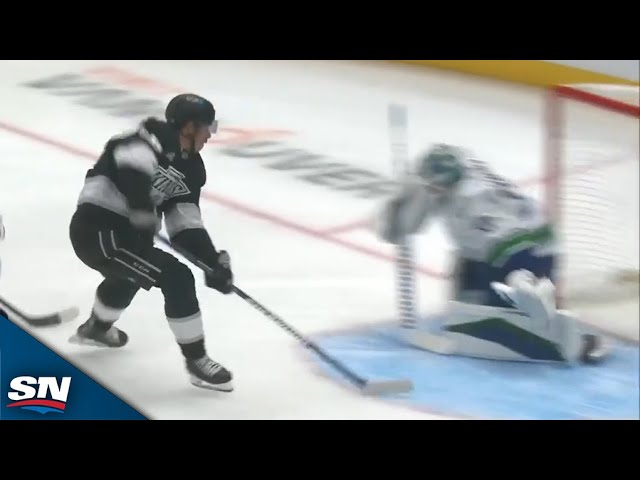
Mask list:
[{"label": "white jersey worn by the crouching goalie", "polygon": [[[479,160],[456,160],[459,180],[441,188],[414,174],[385,207],[381,237],[396,243],[439,218],[458,255],[499,266],[536,247],[553,253],[553,232],[538,203]],[[451,168],[452,165],[447,165]]]}]

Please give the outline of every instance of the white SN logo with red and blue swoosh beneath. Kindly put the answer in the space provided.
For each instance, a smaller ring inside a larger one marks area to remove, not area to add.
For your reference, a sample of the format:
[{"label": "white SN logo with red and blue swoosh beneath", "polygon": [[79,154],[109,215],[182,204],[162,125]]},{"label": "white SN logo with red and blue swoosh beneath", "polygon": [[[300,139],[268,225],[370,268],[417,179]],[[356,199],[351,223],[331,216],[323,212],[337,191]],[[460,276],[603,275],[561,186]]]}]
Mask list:
[{"label": "white SN logo with red and blue swoosh beneath", "polygon": [[33,410],[43,415],[64,413],[70,386],[71,377],[62,377],[60,381],[55,377],[16,377],[11,380],[7,394],[13,402],[7,408]]}]

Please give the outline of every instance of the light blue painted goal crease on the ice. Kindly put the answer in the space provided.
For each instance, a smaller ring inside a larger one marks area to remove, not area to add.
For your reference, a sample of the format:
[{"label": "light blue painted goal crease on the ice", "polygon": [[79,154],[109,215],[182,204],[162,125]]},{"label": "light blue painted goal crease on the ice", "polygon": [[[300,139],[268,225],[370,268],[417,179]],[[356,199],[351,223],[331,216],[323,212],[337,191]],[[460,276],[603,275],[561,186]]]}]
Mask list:
[{"label": "light blue painted goal crease on the ice", "polygon": [[[640,418],[640,348],[618,342],[601,365],[532,364],[453,357],[407,347],[384,325],[316,338],[371,379],[408,378],[415,389],[385,400],[457,418],[589,420]],[[315,358],[315,357],[314,357]],[[344,382],[318,360],[323,372]]]}]

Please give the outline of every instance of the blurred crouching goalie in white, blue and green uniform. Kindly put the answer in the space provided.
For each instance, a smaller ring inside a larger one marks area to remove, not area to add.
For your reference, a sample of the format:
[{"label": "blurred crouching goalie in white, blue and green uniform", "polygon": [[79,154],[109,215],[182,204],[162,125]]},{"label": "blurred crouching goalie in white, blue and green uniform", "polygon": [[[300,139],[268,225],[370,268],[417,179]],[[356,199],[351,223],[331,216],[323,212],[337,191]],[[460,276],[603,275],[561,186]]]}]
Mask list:
[{"label": "blurred crouching goalie in white, blue and green uniform", "polygon": [[484,162],[435,145],[384,206],[390,243],[443,220],[457,246],[453,300],[441,326],[447,351],[524,361],[596,361],[601,338],[557,310],[553,228],[532,199]]}]

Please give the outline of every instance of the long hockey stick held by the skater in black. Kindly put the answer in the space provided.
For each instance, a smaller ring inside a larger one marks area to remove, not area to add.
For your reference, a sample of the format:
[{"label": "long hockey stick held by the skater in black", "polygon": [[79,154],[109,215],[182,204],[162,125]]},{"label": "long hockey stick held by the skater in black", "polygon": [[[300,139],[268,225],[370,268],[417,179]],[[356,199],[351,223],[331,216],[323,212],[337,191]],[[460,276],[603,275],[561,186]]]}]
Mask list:
[{"label": "long hockey stick held by the skater in black", "polygon": [[[205,263],[201,262],[197,258],[194,258],[188,252],[185,252],[184,250],[176,247],[175,245],[172,245],[171,242],[167,238],[165,238],[163,236],[160,236],[160,235],[158,235],[156,238],[158,238],[165,245],[171,247],[177,253],[179,253],[184,258],[189,260],[191,263],[193,263],[196,266],[198,266],[204,272],[213,273],[213,269],[211,267],[209,267]],[[245,293],[244,291],[242,291],[240,288],[238,288],[235,285],[233,287],[233,291],[234,291],[234,293],[236,295],[238,295],[240,298],[242,298],[244,301],[246,301],[253,308],[258,310],[264,316],[266,316],[270,320],[274,321],[281,328],[283,328],[288,333],[293,335],[305,347],[313,350],[320,358],[322,358],[322,360],[324,360],[325,362],[330,364],[332,367],[334,367],[336,370],[338,370],[340,373],[342,373],[352,384],[354,384],[358,389],[360,389],[360,391],[362,393],[367,394],[367,395],[383,395],[383,394],[390,394],[390,393],[405,393],[405,392],[409,392],[409,391],[413,390],[413,383],[410,380],[372,381],[372,380],[368,380],[368,379],[365,379],[365,378],[361,377],[360,375],[356,374],[351,369],[346,367],[344,364],[342,364],[341,362],[339,362],[335,358],[331,357],[328,353],[326,353],[318,345],[316,345],[312,341],[310,341],[307,338],[305,338],[301,333],[297,332],[293,327],[288,325],[282,318],[280,318],[278,315],[276,315],[275,313],[273,313],[270,310],[268,310],[266,307],[264,307],[258,301],[253,299],[249,294]]]}]

